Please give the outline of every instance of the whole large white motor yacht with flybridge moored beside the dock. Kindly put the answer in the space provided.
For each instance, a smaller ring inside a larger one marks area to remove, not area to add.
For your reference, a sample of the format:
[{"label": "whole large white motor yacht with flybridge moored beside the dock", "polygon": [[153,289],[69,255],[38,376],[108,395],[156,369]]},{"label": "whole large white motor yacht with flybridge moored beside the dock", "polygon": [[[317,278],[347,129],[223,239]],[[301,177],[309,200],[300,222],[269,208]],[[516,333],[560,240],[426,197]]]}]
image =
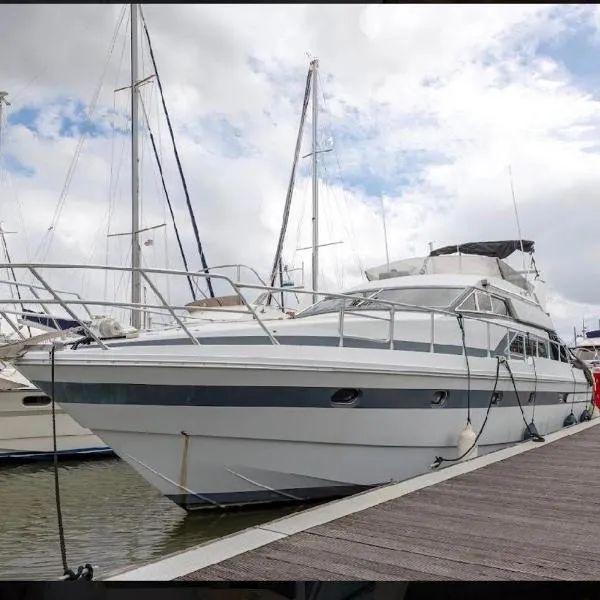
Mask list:
[{"label": "whole large white motor yacht with flybridge moored beside the dock", "polygon": [[[186,307],[156,304],[145,308],[173,315],[172,327],[103,340],[88,328],[88,343],[51,354],[33,340],[4,351],[185,509],[342,496],[460,458],[466,426],[489,452],[591,417],[589,370],[527,273],[503,260],[520,249],[531,255],[533,243],[464,244],[369,269],[363,285],[319,293],[282,320],[245,299],[261,286],[210,274],[251,320],[183,323]],[[46,305],[76,318],[79,306],[50,294]]]}]

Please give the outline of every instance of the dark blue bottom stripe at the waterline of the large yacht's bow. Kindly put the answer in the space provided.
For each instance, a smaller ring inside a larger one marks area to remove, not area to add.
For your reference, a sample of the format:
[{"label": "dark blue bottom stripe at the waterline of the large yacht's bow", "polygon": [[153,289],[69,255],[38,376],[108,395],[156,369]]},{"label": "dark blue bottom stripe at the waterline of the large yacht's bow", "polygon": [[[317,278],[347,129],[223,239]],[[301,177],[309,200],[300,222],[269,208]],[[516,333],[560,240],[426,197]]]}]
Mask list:
[{"label": "dark blue bottom stripe at the waterline of the large yacht's bow", "polygon": [[[271,504],[282,502],[314,502],[316,500],[329,500],[342,498],[372,489],[374,485],[337,485],[311,488],[292,488],[281,490],[279,493],[271,490],[257,490],[252,492],[229,492],[221,494],[171,494],[166,497],[185,510],[200,510],[219,508],[219,504],[227,508],[251,508],[257,504]],[[291,496],[291,497],[290,497]],[[294,498],[297,498],[295,500]]]}]

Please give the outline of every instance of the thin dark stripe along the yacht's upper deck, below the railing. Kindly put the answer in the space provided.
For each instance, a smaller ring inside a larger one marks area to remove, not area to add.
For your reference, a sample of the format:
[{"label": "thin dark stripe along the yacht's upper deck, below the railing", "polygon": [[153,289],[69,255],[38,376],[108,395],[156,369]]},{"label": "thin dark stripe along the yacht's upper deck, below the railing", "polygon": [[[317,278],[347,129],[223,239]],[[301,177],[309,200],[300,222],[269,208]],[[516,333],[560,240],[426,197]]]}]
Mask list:
[{"label": "thin dark stripe along the yacht's upper deck, below the railing", "polygon": [[[337,347],[340,338],[337,336],[320,335],[275,335],[277,341],[284,346],[319,346],[319,347]],[[221,336],[221,337],[200,337],[198,341],[206,346],[270,346],[271,342],[266,335],[252,336]],[[193,342],[188,337],[171,339],[146,339],[131,341],[105,340],[105,343],[111,348],[135,348],[139,346],[190,346]],[[92,348],[90,346],[81,346],[80,349]],[[97,347],[97,346],[96,346]],[[377,341],[359,337],[345,336],[345,348],[372,348],[389,349],[390,344],[386,341]],[[492,355],[502,354],[506,349],[506,338],[503,337],[498,347],[492,350]],[[410,342],[405,340],[394,340],[394,350],[404,350],[409,352],[431,352],[431,345],[427,342]],[[437,354],[462,354],[463,348],[460,344],[434,344],[433,351]],[[487,356],[487,350],[483,348],[474,348],[467,346],[469,356]]]}]

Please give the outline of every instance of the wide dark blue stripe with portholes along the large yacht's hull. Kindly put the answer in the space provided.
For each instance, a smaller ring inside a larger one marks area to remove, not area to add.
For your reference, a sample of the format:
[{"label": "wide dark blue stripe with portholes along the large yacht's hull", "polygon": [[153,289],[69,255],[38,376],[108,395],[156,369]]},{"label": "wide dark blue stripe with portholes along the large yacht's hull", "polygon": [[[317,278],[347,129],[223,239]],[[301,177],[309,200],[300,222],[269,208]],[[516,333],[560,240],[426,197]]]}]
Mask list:
[{"label": "wide dark blue stripe with portholes along the large yacht's hull", "polygon": [[[34,384],[50,392],[48,381]],[[331,398],[337,387],[293,386],[205,386],[205,385],[144,385],[113,383],[56,382],[56,401],[66,404],[113,404],[133,406],[268,406],[331,408]],[[361,408],[429,408],[439,388],[384,389],[363,388],[353,405]],[[487,408],[491,391],[471,390],[472,408]],[[519,390],[523,406],[530,404],[530,393]],[[564,401],[564,397],[563,397]],[[567,397],[570,401],[570,395]],[[536,405],[561,402],[559,392],[537,392]],[[500,406],[517,406],[515,392],[503,392]],[[336,404],[335,406],[340,406]],[[466,408],[467,390],[448,390],[445,407]]]}]

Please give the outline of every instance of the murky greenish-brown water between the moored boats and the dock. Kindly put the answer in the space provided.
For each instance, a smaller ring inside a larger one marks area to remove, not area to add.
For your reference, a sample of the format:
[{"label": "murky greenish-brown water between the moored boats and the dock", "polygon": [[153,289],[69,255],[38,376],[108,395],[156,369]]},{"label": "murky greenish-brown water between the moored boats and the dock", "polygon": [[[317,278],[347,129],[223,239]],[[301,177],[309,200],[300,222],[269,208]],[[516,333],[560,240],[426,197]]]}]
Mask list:
[{"label": "murky greenish-brown water between the moored boats and the dock", "polygon": [[[60,490],[69,567],[97,577],[301,508],[187,515],[118,459],[61,465]],[[61,575],[52,466],[0,468],[0,579]]]}]

